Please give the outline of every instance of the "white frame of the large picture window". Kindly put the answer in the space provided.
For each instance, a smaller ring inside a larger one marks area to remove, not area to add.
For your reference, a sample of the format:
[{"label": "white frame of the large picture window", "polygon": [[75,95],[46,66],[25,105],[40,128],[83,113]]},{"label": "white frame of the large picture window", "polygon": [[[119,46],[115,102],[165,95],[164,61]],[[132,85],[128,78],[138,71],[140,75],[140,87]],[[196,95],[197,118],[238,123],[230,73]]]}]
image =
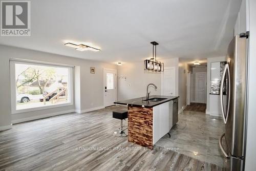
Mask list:
[{"label": "white frame of the large picture window", "polygon": [[[46,67],[58,67],[58,68],[68,68],[69,69],[69,87],[68,87],[68,97],[69,101],[67,103],[62,104],[52,104],[47,106],[40,106],[35,108],[28,108],[28,109],[21,109],[16,110],[16,78],[15,78],[15,64],[28,64],[28,65],[36,65],[36,66],[46,66]],[[11,83],[11,114],[19,114],[24,112],[32,112],[32,111],[39,111],[39,110],[46,110],[52,108],[59,108],[63,106],[69,106],[74,104],[74,66],[66,66],[61,64],[51,64],[48,62],[40,62],[40,61],[26,61],[26,60],[17,60],[17,59],[10,59],[10,83]]]}]

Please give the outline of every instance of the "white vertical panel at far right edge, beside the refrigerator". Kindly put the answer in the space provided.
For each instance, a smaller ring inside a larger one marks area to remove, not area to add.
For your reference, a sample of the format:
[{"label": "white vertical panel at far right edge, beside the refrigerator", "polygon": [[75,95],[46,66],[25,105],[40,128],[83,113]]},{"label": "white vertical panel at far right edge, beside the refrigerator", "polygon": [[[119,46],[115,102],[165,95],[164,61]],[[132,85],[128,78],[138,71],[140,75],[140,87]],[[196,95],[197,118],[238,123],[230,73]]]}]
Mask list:
[{"label": "white vertical panel at far right edge, beside the refrigerator", "polygon": [[[248,8],[249,2],[249,8]],[[248,93],[248,112],[247,112],[247,141],[246,141],[246,158],[245,158],[245,170],[255,170],[255,154],[256,154],[256,1],[246,1],[247,14],[247,30],[250,30],[249,37],[249,93]],[[249,25],[249,28],[248,28]]]}]

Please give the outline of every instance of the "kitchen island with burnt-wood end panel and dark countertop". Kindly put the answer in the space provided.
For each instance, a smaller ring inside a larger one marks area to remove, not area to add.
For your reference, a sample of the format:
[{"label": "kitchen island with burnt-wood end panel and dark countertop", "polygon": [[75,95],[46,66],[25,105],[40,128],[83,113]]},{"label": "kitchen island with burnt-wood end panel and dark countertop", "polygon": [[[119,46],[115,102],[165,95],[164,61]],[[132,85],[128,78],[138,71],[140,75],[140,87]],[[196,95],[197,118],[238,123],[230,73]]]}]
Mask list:
[{"label": "kitchen island with burnt-wood end panel and dark countertop", "polygon": [[150,147],[178,122],[179,96],[150,96],[117,101],[128,108],[128,141]]}]

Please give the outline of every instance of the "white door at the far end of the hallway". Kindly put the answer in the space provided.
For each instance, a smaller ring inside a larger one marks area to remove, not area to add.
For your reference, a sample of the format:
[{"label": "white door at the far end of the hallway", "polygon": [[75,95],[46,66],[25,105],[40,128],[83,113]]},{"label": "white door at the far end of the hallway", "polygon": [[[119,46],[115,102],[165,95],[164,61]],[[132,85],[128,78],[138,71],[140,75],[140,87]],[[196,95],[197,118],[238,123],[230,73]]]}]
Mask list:
[{"label": "white door at the far end of the hallway", "polygon": [[196,73],[195,101],[206,103],[206,73]]}]

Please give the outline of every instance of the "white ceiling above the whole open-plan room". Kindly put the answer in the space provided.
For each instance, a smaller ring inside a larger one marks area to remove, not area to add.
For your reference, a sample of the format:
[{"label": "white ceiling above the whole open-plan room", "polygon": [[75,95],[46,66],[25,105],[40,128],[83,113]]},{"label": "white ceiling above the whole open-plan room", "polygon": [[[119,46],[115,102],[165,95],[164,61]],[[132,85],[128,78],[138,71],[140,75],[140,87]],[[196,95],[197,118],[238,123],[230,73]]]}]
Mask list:
[{"label": "white ceiling above the whole open-plan room", "polygon": [[[0,44],[108,62],[152,56],[201,59],[226,54],[241,0],[31,1],[31,36]],[[100,52],[66,41],[91,42]]]}]

